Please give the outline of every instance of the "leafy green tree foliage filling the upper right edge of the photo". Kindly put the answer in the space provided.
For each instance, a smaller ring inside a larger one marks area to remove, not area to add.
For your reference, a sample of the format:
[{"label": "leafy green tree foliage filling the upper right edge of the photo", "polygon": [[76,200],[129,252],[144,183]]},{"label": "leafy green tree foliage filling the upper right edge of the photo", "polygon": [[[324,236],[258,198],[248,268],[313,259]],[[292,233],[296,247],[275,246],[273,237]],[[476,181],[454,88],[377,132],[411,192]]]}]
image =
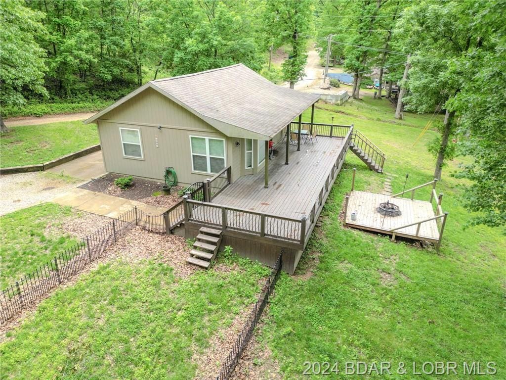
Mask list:
[{"label": "leafy green tree foliage filling the upper right edge of the photo", "polygon": [[[470,51],[455,68],[463,86],[453,100],[458,115],[457,136],[464,154],[474,161],[458,173],[472,181],[463,199],[479,212],[473,223],[506,225],[506,3],[466,2],[460,14],[469,15]],[[506,231],[505,231],[506,232]]]}]

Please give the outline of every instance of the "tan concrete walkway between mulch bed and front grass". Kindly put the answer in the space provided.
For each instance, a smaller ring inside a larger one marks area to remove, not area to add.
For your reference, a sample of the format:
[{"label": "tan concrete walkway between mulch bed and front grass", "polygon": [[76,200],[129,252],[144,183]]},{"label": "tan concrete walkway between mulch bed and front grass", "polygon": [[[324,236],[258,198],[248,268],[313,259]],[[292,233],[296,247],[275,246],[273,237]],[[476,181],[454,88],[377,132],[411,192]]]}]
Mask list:
[{"label": "tan concrete walkway between mulch bed and front grass", "polygon": [[52,202],[62,206],[70,206],[77,210],[91,212],[92,214],[108,216],[110,218],[118,217],[135,206],[149,215],[160,215],[167,210],[166,208],[92,192],[83,188],[73,188],[57,196]]}]

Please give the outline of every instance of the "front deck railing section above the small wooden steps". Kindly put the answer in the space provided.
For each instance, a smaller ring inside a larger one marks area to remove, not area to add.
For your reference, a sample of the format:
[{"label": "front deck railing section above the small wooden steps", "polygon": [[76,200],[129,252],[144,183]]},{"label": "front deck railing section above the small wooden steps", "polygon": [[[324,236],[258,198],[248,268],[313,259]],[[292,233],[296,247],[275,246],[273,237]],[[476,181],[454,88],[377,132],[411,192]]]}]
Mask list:
[{"label": "front deck railing section above the small wooden steps", "polygon": [[222,231],[238,231],[260,237],[304,244],[306,217],[301,219],[264,214],[183,197],[185,222],[219,227]]}]

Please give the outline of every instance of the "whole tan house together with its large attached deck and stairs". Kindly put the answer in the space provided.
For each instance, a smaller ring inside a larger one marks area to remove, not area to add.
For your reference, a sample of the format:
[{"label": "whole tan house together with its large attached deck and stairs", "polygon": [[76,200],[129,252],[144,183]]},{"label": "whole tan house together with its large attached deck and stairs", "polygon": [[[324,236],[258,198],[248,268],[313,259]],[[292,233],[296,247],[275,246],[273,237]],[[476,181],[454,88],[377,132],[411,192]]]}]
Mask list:
[{"label": "whole tan house together with its large attached deck and stairs", "polygon": [[108,172],[162,180],[173,167],[192,185],[163,214],[166,233],[196,239],[187,261],[208,268],[228,245],[271,266],[281,253],[293,273],[348,148],[373,170],[384,162],[353,125],[314,123],[318,98],[236,64],[151,81],[85,123]]}]

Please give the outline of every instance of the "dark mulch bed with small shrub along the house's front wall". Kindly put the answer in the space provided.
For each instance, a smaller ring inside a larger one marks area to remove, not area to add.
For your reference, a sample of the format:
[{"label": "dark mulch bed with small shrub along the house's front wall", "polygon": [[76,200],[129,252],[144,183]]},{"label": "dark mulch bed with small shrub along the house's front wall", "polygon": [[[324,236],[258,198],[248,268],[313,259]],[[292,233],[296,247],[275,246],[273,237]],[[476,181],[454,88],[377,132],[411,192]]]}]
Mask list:
[{"label": "dark mulch bed with small shrub along the house's front wall", "polygon": [[174,186],[171,189],[171,194],[169,195],[161,194],[153,196],[153,193],[161,192],[161,186],[164,182],[134,177],[133,185],[125,190],[122,190],[114,185],[114,180],[121,177],[124,177],[124,175],[108,173],[100,178],[79,186],[79,188],[112,195],[114,197],[126,198],[132,201],[139,201],[152,206],[167,208],[172,207],[181,200],[178,196],[178,191],[183,188],[181,186]]}]

